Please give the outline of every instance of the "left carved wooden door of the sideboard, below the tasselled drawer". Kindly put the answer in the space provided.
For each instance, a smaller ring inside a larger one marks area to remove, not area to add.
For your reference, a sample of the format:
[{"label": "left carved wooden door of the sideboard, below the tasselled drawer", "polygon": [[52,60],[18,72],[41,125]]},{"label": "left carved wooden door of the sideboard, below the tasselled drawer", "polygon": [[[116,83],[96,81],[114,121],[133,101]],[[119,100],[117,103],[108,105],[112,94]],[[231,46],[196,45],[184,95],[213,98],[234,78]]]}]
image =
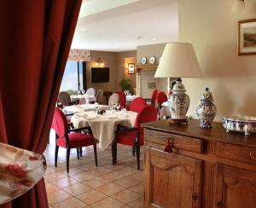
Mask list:
[{"label": "left carved wooden door of the sideboard, below the tasselled drawer", "polygon": [[[199,207],[202,161],[146,148],[145,207]],[[165,190],[165,192],[162,192]]]}]

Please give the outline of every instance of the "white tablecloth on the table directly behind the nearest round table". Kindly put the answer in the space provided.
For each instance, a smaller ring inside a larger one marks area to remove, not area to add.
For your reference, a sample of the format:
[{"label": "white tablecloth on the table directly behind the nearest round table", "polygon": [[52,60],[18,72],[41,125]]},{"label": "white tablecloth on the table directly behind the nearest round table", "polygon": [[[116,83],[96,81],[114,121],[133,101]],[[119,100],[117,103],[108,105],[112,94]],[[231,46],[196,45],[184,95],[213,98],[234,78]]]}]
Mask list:
[{"label": "white tablecloth on the table directly behind the nearest round table", "polygon": [[84,104],[84,105],[73,105],[64,107],[62,111],[64,113],[84,113],[88,111],[95,111],[96,106],[99,107],[99,109],[102,110],[110,110],[109,106],[99,105],[99,104]]}]

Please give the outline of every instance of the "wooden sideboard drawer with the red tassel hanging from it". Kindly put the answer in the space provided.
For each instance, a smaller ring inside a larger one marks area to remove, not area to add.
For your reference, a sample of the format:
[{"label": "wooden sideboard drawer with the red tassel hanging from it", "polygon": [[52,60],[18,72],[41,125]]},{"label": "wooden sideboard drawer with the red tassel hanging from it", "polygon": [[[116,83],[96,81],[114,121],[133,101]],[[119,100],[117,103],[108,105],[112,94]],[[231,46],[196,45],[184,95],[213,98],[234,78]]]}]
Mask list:
[{"label": "wooden sideboard drawer with the red tassel hanging from it", "polygon": [[157,130],[145,130],[145,140],[146,144],[149,143],[156,148],[166,147],[168,139],[171,139],[173,148],[188,150],[195,153],[203,153],[203,141],[201,139],[189,137],[189,136],[180,136],[175,134],[170,134],[166,132],[161,132]]}]

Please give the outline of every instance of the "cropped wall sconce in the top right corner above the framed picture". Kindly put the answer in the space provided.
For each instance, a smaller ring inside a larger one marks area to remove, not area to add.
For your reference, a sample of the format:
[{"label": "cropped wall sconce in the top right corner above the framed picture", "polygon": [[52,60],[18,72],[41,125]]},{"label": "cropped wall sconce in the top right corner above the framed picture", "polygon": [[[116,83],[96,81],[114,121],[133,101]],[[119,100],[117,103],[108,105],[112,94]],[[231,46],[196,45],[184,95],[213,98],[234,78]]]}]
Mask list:
[{"label": "cropped wall sconce in the top right corner above the framed picture", "polygon": [[256,0],[236,0],[231,12],[236,14],[256,14]]}]

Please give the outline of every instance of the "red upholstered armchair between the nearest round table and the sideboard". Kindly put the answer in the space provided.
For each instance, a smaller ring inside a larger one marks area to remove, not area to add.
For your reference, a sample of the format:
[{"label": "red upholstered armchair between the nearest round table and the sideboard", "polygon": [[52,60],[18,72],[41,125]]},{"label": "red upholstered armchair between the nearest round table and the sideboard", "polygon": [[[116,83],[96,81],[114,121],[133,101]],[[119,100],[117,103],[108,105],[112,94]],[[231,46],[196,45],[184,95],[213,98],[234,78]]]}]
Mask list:
[{"label": "red upholstered armchair between the nearest round table and the sideboard", "polygon": [[113,165],[117,163],[117,143],[119,143],[135,148],[137,155],[137,170],[140,169],[140,146],[144,144],[144,130],[141,127],[141,124],[155,121],[156,119],[157,111],[155,107],[146,106],[137,114],[134,128],[127,128],[119,125],[115,141],[112,144]]}]

